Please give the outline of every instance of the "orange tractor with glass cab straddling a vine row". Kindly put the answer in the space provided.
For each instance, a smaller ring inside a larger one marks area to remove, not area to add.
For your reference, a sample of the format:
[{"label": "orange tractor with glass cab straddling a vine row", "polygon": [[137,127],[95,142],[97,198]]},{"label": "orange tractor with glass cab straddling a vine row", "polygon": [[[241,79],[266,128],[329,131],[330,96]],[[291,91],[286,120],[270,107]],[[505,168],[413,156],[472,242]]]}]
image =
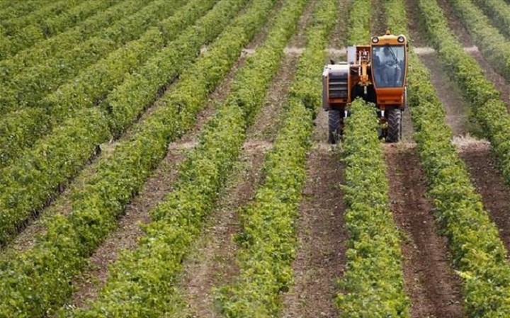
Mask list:
[{"label": "orange tractor with glass cab straddling a vine row", "polygon": [[370,45],[347,48],[347,62],[324,67],[322,106],[328,111],[330,143],[344,132],[348,105],[356,98],[375,104],[379,137],[398,142],[402,137],[402,111],[407,99],[407,38],[375,36]]}]

